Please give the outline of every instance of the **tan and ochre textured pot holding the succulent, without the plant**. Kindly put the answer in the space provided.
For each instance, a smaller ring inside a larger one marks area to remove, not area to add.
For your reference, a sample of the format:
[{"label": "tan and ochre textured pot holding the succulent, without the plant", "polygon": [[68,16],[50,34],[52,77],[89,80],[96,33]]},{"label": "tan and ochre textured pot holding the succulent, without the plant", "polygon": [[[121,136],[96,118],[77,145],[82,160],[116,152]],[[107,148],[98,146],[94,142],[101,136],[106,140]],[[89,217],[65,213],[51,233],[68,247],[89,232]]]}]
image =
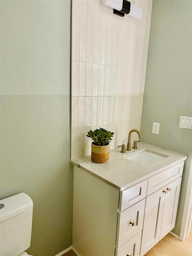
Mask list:
[{"label": "tan and ochre textured pot holding the succulent, without the plant", "polygon": [[106,163],[109,160],[109,144],[106,146],[97,146],[91,144],[91,160],[95,163]]}]

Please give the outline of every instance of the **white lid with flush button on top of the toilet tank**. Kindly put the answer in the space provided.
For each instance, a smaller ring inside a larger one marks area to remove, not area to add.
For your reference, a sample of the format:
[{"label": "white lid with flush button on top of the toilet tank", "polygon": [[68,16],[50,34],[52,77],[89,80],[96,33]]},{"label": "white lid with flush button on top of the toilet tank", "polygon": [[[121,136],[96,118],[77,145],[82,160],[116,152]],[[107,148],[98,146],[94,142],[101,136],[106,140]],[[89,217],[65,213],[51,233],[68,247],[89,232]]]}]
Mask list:
[{"label": "white lid with flush button on top of the toilet tank", "polygon": [[32,199],[25,193],[0,200],[0,204],[5,206],[0,209],[0,222],[8,220],[33,207]]}]

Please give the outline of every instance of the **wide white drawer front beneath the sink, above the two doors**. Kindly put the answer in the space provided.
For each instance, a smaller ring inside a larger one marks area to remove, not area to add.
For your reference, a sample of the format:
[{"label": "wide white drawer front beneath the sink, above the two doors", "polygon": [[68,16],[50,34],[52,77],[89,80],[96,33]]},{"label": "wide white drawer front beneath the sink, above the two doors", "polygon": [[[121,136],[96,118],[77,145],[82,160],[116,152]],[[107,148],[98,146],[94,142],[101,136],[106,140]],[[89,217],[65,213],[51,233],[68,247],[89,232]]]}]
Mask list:
[{"label": "wide white drawer front beneath the sink, above the two doors", "polygon": [[182,176],[183,166],[184,161],[149,178],[147,195],[152,194],[153,192]]}]

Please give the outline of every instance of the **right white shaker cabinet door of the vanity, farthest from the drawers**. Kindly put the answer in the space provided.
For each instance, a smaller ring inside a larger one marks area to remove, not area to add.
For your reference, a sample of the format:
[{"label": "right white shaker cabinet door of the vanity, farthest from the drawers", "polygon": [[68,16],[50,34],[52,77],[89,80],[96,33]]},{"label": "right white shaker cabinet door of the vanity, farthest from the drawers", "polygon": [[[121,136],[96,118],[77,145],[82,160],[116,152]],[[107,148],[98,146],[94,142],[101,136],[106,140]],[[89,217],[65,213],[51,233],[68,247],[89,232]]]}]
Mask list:
[{"label": "right white shaker cabinet door of the vanity, farthest from the drawers", "polygon": [[175,180],[174,182],[171,182],[167,186],[167,188],[169,188],[169,191],[165,196],[160,240],[175,227],[181,179],[182,177]]}]

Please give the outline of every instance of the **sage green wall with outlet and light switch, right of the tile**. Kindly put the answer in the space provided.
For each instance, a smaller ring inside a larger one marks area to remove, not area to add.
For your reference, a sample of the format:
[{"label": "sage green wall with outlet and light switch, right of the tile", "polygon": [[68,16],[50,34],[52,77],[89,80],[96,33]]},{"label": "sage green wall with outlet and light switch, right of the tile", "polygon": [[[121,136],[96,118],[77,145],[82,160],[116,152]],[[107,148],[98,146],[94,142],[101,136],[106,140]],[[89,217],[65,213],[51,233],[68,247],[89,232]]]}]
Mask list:
[{"label": "sage green wall with outlet and light switch, right of the tile", "polygon": [[[180,115],[192,116],[192,2],[153,0],[147,60],[142,141],[188,155],[176,226],[180,234],[192,158],[192,130],[179,128]],[[160,123],[159,135],[151,133]]]}]

